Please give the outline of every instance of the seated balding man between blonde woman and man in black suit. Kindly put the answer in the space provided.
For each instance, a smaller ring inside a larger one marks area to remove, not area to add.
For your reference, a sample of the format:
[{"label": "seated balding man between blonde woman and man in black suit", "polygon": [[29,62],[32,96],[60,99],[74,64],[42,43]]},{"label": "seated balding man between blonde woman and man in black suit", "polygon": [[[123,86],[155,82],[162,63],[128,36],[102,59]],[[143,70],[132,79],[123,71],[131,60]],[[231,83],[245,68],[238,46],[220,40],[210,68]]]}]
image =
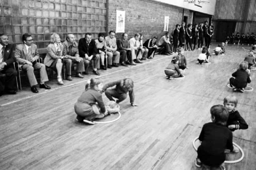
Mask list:
[{"label": "seated balding man between blonde woman and man in black suit", "polygon": [[76,77],[84,78],[84,76],[81,75],[82,72],[84,72],[84,59],[82,57],[79,57],[78,54],[78,44],[75,41],[75,35],[74,34],[68,34],[66,41],[62,43],[63,45],[63,56],[67,56],[67,58],[64,59],[66,63],[66,70],[67,70],[67,80],[72,80],[71,78],[71,66],[72,62],[77,64],[77,70],[76,70]]}]

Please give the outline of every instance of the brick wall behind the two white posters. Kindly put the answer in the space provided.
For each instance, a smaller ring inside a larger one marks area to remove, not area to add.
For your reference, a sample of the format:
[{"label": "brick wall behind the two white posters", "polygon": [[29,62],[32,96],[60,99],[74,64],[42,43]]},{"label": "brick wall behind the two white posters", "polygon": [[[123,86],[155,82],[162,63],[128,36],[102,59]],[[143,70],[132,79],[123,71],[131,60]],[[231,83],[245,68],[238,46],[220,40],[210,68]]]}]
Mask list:
[{"label": "brick wall behind the two white posters", "polygon": [[[153,0],[108,0],[108,31],[116,30],[116,10],[125,11],[125,32],[131,38],[141,33],[146,40],[152,36],[164,35],[164,16],[169,16],[169,31],[182,21],[182,8]],[[184,10],[188,23],[192,20],[192,12]],[[117,33],[116,37],[121,37]]]}]

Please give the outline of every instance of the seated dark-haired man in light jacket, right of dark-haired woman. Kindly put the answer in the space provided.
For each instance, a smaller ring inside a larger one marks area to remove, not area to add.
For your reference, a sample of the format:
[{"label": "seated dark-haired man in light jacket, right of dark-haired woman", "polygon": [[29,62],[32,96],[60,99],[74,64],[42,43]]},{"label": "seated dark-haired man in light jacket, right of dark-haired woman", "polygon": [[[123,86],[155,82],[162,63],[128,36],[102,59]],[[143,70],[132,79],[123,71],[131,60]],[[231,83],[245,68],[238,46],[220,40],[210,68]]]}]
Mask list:
[{"label": "seated dark-haired man in light jacket, right of dark-haired woman", "polygon": [[[120,61],[120,52],[117,51],[117,45],[116,45],[116,32],[115,31],[109,31],[108,36],[105,37],[105,48],[107,49],[108,56],[112,56],[112,66],[118,67],[118,63]],[[122,56],[122,61],[125,56]]]}]

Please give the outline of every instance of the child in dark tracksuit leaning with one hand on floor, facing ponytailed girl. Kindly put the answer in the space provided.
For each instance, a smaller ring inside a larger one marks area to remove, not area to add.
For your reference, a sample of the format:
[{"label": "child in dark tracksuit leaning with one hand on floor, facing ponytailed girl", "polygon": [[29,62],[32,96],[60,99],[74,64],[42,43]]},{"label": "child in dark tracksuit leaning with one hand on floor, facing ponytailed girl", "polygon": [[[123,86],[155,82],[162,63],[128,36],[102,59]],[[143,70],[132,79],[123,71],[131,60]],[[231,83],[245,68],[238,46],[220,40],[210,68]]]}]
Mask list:
[{"label": "child in dark tracksuit leaning with one hand on floor, facing ponytailed girl", "polygon": [[[115,89],[108,89],[115,85]],[[120,103],[124,99],[126,99],[126,93],[129,92],[131,105],[138,106],[137,104],[134,104],[133,81],[130,78],[110,82],[103,86],[102,91],[105,92],[105,95],[108,97],[109,100],[115,101],[113,97],[117,98],[116,103]]]}]

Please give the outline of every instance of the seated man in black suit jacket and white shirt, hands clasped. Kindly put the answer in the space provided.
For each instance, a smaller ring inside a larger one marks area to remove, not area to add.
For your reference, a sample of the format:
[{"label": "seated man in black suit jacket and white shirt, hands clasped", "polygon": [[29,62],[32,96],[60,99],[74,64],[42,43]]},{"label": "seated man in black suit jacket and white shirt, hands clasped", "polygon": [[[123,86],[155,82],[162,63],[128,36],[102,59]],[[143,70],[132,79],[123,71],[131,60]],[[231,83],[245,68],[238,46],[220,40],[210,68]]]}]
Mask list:
[{"label": "seated man in black suit jacket and white shirt, hands clasped", "polygon": [[88,74],[87,70],[91,60],[94,61],[94,68],[92,72],[96,75],[100,75],[97,71],[99,68],[100,56],[97,54],[97,47],[95,41],[92,39],[91,33],[86,33],[85,38],[81,38],[78,42],[78,52],[80,57],[84,59],[85,74]]}]

